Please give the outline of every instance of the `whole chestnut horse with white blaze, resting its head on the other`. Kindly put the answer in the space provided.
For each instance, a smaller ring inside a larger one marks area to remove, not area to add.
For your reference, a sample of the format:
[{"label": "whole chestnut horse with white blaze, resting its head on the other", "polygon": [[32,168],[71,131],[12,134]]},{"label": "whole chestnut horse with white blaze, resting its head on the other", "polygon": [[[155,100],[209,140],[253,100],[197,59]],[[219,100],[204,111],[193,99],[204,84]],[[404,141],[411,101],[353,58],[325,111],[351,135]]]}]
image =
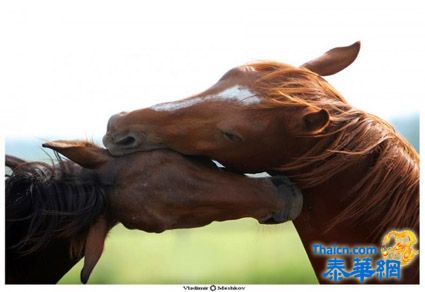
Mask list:
[{"label": "whole chestnut horse with white blaze, resting its head on the other", "polygon": [[[419,233],[419,156],[382,119],[351,106],[322,76],[350,65],[360,43],[294,67],[259,62],[187,99],[112,116],[113,155],[170,148],[238,172],[285,173],[302,190],[294,225],[321,283],[314,242],[374,244],[392,229]],[[402,282],[418,283],[419,260]]]}]

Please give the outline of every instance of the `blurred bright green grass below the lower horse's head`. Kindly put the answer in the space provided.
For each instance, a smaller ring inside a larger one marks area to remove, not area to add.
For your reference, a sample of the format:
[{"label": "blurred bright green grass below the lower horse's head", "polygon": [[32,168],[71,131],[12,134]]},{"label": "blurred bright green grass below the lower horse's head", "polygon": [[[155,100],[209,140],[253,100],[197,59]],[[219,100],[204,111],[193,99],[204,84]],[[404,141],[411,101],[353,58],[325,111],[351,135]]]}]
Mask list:
[{"label": "blurred bright green grass below the lower horse's head", "polygon": [[[80,261],[61,284],[80,283]],[[243,219],[150,234],[119,225],[89,283],[317,283],[292,223],[259,225]]]}]

